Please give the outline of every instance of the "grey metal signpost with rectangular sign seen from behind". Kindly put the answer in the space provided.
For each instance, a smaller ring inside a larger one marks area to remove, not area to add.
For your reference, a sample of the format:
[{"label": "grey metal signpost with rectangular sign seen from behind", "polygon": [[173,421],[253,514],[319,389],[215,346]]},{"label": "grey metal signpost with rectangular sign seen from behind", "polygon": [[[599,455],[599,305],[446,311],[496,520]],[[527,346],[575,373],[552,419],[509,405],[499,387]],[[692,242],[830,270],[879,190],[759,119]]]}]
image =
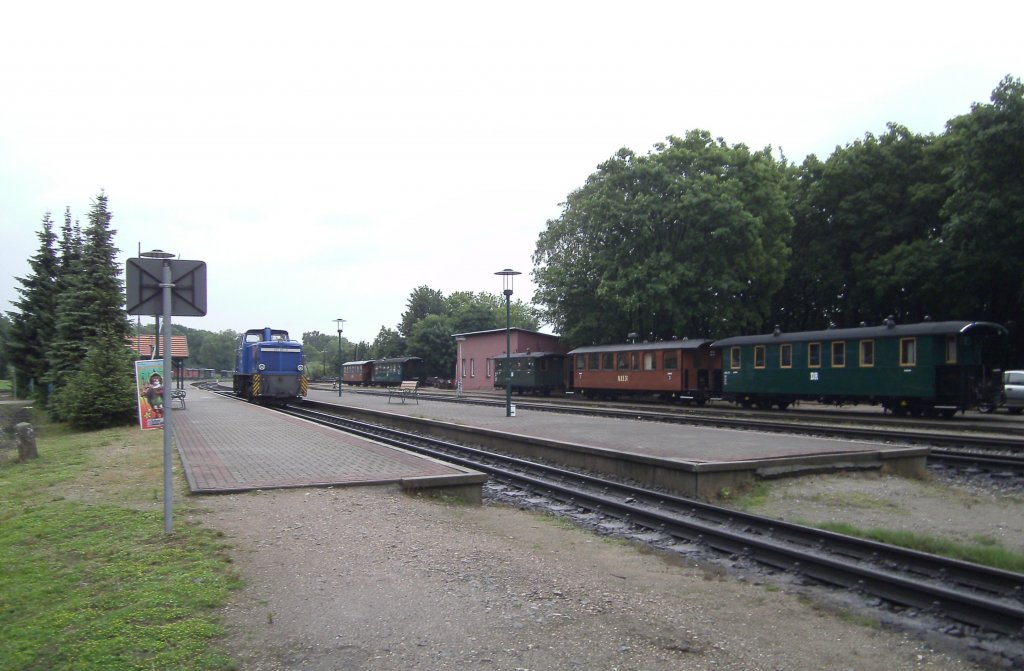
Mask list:
[{"label": "grey metal signpost with rectangular sign seen from behind", "polygon": [[171,314],[206,316],[206,262],[175,259],[155,249],[128,259],[125,294],[129,314],[164,316],[164,532],[171,533]]}]

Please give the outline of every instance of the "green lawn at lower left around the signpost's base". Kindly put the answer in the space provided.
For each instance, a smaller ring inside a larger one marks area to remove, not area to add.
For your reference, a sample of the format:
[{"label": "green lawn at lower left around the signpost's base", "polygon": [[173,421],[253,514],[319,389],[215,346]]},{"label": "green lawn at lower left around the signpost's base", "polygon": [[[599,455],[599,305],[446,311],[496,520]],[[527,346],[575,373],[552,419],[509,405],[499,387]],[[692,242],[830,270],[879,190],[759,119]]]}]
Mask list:
[{"label": "green lawn at lower left around the signpost's base", "polygon": [[161,445],[37,424],[38,460],[0,453],[0,669],[234,668],[217,609],[239,581],[183,510],[164,533]]}]

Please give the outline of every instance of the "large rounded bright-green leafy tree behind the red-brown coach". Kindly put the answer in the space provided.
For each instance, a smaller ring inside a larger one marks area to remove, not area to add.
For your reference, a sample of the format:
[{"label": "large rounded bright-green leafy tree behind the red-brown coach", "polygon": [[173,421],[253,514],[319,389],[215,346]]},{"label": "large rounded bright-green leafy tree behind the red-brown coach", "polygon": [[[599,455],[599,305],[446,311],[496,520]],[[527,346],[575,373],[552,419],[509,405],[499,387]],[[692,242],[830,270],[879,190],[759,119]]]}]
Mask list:
[{"label": "large rounded bright-green leafy tree behind the red-brown coach", "polygon": [[706,131],[620,150],[540,236],[545,320],[571,343],[760,326],[788,262],[785,176],[769,150]]}]

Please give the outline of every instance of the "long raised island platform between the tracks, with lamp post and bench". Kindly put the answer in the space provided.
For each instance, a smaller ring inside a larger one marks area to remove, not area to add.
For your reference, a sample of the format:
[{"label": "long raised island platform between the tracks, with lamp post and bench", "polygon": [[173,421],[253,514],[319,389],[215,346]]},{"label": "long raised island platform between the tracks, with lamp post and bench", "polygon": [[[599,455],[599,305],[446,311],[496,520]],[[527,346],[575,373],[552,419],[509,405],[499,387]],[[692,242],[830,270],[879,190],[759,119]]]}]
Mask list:
[{"label": "long raised island platform between the tracks, with lamp post and bench", "polygon": [[[451,400],[389,400],[381,391],[310,388],[307,399],[353,416],[438,434],[472,427],[467,439],[524,458],[556,458],[684,496],[719,498],[757,479],[819,472],[877,471],[925,477],[928,448],[602,418]],[[504,402],[504,396],[501,399]],[[483,431],[482,437],[480,431]]]}]

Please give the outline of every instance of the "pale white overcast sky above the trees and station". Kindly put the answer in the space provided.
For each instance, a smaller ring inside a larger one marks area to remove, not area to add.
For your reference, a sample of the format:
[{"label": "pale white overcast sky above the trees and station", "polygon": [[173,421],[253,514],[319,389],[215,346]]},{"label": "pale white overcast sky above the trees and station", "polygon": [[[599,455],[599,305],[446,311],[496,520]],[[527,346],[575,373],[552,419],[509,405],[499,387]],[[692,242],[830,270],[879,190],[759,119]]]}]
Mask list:
[{"label": "pale white overcast sky above the trees and station", "polygon": [[[124,259],[206,261],[211,331],[372,341],[500,293],[596,166],[705,129],[827,158],[1024,77],[1024,4],[0,0],[0,309],[103,190]],[[798,259],[799,261],[799,259]]]}]

